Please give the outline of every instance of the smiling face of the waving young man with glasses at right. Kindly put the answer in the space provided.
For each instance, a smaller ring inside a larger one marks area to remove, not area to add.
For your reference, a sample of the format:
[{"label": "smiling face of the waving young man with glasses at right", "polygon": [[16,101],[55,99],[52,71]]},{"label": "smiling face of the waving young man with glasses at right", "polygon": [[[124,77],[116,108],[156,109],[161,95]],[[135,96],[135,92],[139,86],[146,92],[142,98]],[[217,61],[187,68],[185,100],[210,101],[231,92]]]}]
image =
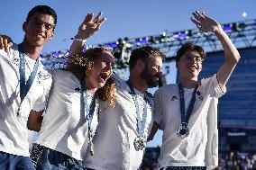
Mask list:
[{"label": "smiling face of the waving young man with glasses at right", "polygon": [[185,76],[188,79],[195,79],[202,71],[203,58],[196,50],[187,50],[187,52],[177,62],[180,76]]}]

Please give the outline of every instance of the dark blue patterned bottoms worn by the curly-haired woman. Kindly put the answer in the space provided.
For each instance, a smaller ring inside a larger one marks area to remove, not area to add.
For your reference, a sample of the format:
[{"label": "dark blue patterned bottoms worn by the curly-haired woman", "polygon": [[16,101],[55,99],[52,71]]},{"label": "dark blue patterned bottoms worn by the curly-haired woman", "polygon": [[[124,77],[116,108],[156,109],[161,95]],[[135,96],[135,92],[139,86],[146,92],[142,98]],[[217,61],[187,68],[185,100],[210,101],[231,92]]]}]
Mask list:
[{"label": "dark blue patterned bottoms worn by the curly-haired woman", "polygon": [[37,170],[86,170],[81,160],[69,157],[56,150],[34,144],[32,148],[32,162]]}]

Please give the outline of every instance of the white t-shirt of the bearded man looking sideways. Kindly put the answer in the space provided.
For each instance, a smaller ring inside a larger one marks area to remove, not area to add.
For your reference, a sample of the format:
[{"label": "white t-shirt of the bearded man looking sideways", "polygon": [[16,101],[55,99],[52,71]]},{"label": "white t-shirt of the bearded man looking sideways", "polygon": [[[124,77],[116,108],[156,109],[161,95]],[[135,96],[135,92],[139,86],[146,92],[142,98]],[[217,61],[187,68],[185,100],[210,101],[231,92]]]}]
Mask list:
[{"label": "white t-shirt of the bearded man looking sideways", "polygon": [[[95,155],[87,156],[85,165],[96,170],[137,170],[144,153],[136,151],[133,146],[134,139],[138,136],[137,114],[130,87],[125,81],[116,77],[117,94],[114,108],[105,109],[101,104],[99,124],[94,138]],[[144,94],[135,91],[138,96],[140,115],[144,107]],[[152,126],[153,100],[147,104],[147,118],[144,130],[145,138],[148,137]]]}]

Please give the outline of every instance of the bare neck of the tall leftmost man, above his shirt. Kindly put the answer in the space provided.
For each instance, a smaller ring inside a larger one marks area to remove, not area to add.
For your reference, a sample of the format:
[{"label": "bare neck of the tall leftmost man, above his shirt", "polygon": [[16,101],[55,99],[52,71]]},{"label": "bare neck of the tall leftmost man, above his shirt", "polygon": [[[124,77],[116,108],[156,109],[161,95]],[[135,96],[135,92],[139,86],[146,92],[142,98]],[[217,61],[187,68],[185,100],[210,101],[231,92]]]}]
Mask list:
[{"label": "bare neck of the tall leftmost man, above his shirt", "polygon": [[27,40],[23,40],[22,42],[22,47],[23,47],[23,50],[24,50],[24,53],[29,57],[29,58],[32,58],[34,60],[36,60],[37,58],[39,58],[40,56],[40,53],[41,53],[41,49],[42,49],[42,46],[41,47],[35,47],[35,46],[32,46],[30,45]]}]

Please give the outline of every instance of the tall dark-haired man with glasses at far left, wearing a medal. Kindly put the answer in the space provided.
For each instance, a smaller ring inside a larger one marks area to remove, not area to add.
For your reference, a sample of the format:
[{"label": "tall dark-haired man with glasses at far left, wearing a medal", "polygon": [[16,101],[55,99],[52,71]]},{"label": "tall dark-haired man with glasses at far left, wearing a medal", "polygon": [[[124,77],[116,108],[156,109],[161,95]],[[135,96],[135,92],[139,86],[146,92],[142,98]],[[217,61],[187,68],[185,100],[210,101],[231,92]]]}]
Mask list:
[{"label": "tall dark-haired man with glasses at far left, wearing a medal", "polygon": [[[29,128],[41,124],[35,118],[41,117],[52,80],[39,57],[43,45],[54,35],[56,23],[53,9],[35,6],[23,22],[23,42],[10,49],[5,45],[7,52],[0,49],[0,169],[34,169],[27,121],[34,121]],[[6,41],[0,39],[1,44]]]}]

